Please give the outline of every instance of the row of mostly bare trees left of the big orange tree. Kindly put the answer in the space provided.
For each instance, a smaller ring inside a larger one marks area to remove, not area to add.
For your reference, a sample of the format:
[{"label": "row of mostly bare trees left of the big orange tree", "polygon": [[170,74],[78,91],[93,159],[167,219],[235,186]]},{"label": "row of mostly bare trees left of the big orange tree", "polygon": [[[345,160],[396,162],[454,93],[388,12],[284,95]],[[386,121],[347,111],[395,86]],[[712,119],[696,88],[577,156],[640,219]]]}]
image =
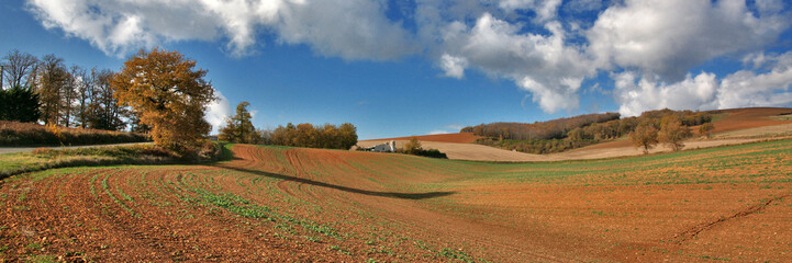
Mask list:
[{"label": "row of mostly bare trees left of the big orange tree", "polygon": [[[136,119],[129,107],[119,105],[110,88],[111,70],[67,67],[54,54],[38,58],[15,49],[0,65],[0,119],[104,130],[124,129],[124,118]],[[141,128],[133,124],[133,129]]]}]

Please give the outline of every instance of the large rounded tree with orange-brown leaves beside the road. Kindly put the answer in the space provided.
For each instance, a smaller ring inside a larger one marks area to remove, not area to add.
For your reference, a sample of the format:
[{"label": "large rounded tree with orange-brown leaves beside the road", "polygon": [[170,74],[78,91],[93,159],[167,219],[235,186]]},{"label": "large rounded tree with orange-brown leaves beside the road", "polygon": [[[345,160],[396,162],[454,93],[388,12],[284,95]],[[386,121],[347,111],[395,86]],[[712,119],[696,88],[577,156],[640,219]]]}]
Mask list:
[{"label": "large rounded tree with orange-brown leaves beside the road", "polygon": [[196,61],[180,53],[154,48],[126,60],[110,85],[119,103],[152,127],[156,145],[186,151],[205,141],[211,129],[204,115],[215,96],[205,76],[207,70],[196,69]]}]

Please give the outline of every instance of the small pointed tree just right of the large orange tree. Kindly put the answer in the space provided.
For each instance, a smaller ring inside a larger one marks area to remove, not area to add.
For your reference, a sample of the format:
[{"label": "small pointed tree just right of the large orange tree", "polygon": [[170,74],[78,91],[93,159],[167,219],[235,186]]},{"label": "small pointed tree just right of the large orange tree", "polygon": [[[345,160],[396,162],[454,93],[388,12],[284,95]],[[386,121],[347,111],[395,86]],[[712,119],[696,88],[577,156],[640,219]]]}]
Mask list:
[{"label": "small pointed tree just right of the large orange tree", "polygon": [[241,144],[254,144],[258,140],[252,122],[253,115],[247,111],[249,105],[246,101],[236,105],[236,115],[225,119],[225,125],[220,128],[219,140]]}]

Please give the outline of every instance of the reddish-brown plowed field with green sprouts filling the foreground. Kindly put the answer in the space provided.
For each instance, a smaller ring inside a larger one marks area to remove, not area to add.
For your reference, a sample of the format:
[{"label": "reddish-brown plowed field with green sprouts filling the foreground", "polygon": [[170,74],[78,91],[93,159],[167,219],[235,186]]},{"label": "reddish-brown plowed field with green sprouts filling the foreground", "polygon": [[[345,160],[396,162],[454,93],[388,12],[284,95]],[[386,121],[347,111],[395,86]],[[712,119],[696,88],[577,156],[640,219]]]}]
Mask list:
[{"label": "reddish-brown plowed field with green sprouts filling the foreground", "polygon": [[213,165],[0,184],[0,258],[97,262],[776,261],[792,140],[487,163],[237,145]]}]

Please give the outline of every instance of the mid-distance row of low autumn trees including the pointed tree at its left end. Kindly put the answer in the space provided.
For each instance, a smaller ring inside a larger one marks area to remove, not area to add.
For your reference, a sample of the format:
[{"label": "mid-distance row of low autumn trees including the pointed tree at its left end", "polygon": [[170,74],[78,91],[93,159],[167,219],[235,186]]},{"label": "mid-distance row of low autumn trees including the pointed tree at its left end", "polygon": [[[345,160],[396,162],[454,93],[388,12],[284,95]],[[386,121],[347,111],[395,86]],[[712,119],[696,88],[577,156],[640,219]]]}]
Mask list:
[{"label": "mid-distance row of low autumn trees including the pointed tree at its left end", "polygon": [[220,128],[217,140],[344,150],[357,144],[357,128],[349,123],[338,126],[289,123],[272,130],[257,129],[247,110],[249,105],[248,102],[242,102],[236,106],[236,114],[227,117]]}]

